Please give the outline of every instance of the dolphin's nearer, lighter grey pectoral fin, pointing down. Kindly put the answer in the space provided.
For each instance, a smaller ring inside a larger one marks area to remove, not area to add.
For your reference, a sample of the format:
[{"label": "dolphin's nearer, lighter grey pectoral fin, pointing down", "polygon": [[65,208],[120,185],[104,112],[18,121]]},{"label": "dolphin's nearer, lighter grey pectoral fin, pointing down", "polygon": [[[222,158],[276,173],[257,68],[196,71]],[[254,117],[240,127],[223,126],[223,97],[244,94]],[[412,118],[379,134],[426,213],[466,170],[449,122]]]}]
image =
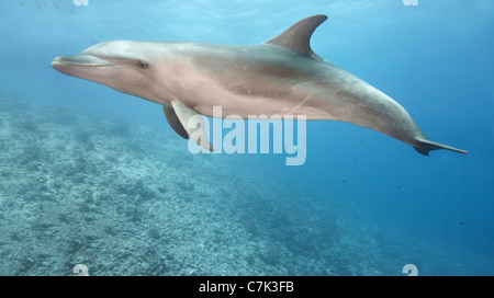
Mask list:
[{"label": "dolphin's nearer, lighter grey pectoral fin, pointing down", "polygon": [[[204,122],[202,121],[201,114],[179,101],[172,101],[169,108],[172,111],[169,111],[168,107],[164,105],[168,123],[171,121],[170,125],[177,134],[182,137],[188,135],[186,138],[190,137],[206,150],[214,151],[213,146],[211,146],[206,133],[204,131]],[[180,123],[177,123],[176,119]]]}]

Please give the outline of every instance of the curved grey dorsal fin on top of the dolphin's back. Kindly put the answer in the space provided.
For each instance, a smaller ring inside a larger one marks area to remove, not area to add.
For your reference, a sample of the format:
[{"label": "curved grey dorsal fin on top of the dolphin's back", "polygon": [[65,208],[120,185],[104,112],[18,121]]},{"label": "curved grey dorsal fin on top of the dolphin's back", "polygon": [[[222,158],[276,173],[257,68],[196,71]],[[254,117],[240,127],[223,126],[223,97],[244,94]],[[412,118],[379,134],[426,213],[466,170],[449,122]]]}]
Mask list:
[{"label": "curved grey dorsal fin on top of the dolphin's back", "polygon": [[266,41],[265,44],[282,46],[302,55],[315,55],[311,49],[311,36],[314,30],[326,20],[327,16],[324,14],[305,18],[281,34]]}]

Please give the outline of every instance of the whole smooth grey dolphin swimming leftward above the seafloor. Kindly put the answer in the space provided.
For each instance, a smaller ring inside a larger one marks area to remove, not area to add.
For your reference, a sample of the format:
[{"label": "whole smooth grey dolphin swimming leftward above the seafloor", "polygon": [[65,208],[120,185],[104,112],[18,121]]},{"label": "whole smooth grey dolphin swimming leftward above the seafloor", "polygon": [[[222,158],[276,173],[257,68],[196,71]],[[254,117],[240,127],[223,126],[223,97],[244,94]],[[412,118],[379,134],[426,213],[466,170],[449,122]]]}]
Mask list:
[{"label": "whole smooth grey dolphin swimming leftward above the seafloor", "polygon": [[225,116],[348,122],[425,156],[436,149],[467,153],[430,141],[390,96],[317,56],[310,41],[326,19],[306,18],[259,45],[111,41],[78,56],[56,57],[52,66],[162,105],[177,134],[210,150],[202,117],[194,116],[213,116],[213,106],[222,106]]}]

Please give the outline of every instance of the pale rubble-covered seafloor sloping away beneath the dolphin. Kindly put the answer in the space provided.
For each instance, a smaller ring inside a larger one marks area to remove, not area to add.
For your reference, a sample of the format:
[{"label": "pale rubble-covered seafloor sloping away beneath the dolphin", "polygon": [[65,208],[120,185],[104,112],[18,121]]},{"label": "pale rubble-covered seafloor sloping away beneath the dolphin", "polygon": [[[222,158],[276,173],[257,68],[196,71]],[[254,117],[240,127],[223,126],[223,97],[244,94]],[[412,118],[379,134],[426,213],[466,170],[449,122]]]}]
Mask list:
[{"label": "pale rubble-covered seafloor sloping away beneath the dolphin", "polygon": [[191,154],[171,129],[2,96],[0,148],[0,275],[401,275],[409,260],[469,274],[337,204]]}]

